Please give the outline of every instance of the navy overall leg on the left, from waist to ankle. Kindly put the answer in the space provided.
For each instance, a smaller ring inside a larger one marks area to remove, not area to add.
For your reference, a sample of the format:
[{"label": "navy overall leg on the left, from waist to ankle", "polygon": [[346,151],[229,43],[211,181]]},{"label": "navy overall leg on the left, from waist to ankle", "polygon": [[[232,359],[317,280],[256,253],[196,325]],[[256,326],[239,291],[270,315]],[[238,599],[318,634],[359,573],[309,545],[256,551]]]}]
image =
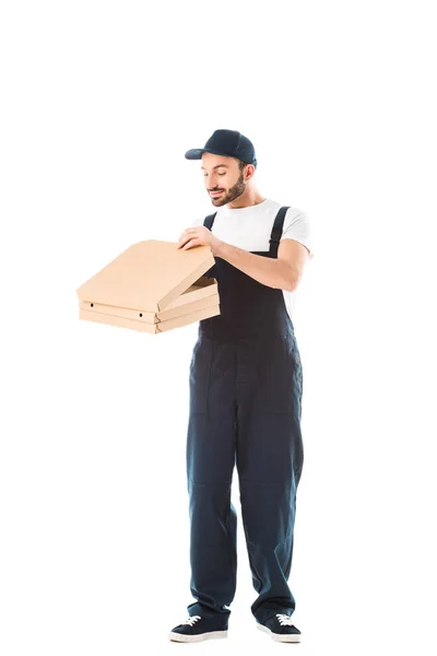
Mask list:
[{"label": "navy overall leg on the left, from waist to ankle", "polygon": [[[190,366],[187,483],[190,516],[190,616],[223,616],[236,588],[237,517],[231,502],[235,465],[233,351],[201,336]],[[220,622],[218,622],[220,623]]]}]

